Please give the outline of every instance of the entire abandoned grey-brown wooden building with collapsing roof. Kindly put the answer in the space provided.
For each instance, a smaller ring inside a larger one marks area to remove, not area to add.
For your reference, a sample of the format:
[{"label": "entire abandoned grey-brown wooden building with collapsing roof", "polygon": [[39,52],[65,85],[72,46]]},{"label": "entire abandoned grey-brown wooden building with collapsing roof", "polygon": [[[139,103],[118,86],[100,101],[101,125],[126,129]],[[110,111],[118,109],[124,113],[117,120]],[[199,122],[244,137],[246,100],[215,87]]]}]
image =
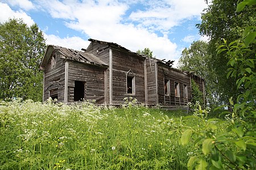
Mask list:
[{"label": "entire abandoned grey-brown wooden building with collapsing roof", "polygon": [[101,105],[121,105],[131,96],[146,105],[185,105],[192,99],[191,79],[204,94],[204,79],[168,62],[113,42],[89,41],[82,51],[48,45],[40,65],[43,101],[52,97],[65,104],[94,100]]}]

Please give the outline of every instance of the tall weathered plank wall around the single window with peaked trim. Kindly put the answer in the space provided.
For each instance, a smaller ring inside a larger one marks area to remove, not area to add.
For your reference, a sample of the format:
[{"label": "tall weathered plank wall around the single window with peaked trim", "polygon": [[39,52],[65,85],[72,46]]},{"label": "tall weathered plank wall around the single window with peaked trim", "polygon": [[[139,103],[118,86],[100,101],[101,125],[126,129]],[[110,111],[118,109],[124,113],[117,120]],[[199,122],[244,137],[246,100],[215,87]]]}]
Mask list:
[{"label": "tall weathered plank wall around the single window with peaked trim", "polygon": [[[138,103],[145,103],[144,58],[123,50],[113,52],[113,104],[122,104],[125,97],[133,97]],[[134,73],[135,94],[127,94],[126,74]]]}]

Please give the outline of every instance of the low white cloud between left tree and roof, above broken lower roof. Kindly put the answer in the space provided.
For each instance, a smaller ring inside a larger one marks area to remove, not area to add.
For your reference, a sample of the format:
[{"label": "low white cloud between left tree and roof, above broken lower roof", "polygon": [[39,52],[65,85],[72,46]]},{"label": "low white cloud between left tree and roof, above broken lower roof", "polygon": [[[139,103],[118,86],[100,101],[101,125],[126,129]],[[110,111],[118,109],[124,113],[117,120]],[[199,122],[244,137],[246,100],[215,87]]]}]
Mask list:
[{"label": "low white cloud between left tree and roof, above broken lower roof", "polygon": [[80,37],[65,37],[61,39],[59,36],[44,34],[44,38],[46,39],[46,44],[48,45],[59,45],[65,48],[71,48],[76,50],[81,50],[81,48],[86,49],[87,46],[90,44],[89,41],[85,41]]}]

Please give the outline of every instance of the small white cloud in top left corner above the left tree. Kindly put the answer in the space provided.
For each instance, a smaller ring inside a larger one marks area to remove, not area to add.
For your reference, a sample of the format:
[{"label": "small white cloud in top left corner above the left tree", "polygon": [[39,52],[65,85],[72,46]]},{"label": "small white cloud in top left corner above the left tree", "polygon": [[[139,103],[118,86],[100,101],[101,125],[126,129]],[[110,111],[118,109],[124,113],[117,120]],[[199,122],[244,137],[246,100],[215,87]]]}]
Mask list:
[{"label": "small white cloud in top left corner above the left tree", "polygon": [[0,22],[6,22],[9,18],[21,18],[28,25],[34,24],[34,20],[26,12],[22,10],[13,11],[6,3],[0,2]]}]

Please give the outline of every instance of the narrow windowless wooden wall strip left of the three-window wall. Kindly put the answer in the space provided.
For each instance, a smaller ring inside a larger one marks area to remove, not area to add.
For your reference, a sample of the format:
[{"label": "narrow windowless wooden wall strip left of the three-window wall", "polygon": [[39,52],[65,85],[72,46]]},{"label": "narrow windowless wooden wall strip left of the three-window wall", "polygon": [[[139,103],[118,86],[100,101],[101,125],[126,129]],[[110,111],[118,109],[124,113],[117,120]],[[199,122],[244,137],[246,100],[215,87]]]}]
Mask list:
[{"label": "narrow windowless wooden wall strip left of the three-window wall", "polygon": [[148,105],[156,105],[157,87],[156,87],[156,60],[147,58],[147,100]]}]

